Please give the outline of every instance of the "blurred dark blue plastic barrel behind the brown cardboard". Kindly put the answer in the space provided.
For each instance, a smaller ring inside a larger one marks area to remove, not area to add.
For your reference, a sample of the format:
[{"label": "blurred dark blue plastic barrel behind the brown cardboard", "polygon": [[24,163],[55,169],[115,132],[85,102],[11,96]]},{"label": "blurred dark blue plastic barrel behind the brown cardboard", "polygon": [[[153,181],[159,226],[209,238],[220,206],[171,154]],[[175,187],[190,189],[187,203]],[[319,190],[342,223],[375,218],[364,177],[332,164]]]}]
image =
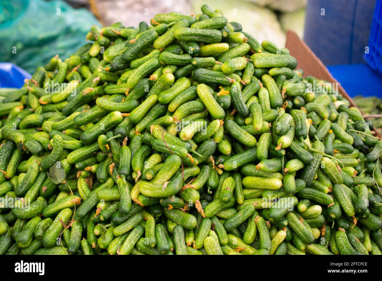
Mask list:
[{"label": "blurred dark blue plastic barrel behind the brown cardboard", "polygon": [[[376,0],[309,0],[304,42],[326,66],[364,63],[375,3]],[[380,8],[376,10],[380,15]]]}]

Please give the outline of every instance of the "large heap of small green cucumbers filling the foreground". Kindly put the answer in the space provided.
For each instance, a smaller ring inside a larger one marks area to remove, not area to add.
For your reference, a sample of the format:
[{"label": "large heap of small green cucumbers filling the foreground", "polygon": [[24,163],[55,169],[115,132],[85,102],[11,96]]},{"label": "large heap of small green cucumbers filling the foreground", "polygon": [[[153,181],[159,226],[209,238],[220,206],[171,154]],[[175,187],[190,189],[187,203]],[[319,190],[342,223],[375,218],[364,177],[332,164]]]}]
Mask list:
[{"label": "large heap of small green cucumbers filling the foreground", "polygon": [[0,89],[0,254],[381,255],[372,124],[201,12],[93,26]]}]

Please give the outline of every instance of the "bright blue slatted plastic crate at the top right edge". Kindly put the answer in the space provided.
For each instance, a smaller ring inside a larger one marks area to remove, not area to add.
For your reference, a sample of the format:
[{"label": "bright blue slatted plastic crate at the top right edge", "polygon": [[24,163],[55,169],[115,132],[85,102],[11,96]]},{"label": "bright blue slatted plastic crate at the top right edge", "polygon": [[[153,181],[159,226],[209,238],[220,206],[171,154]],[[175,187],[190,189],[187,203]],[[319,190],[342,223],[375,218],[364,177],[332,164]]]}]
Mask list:
[{"label": "bright blue slatted plastic crate at the top right edge", "polygon": [[376,1],[368,46],[369,54],[363,57],[372,69],[382,75],[382,0]]}]

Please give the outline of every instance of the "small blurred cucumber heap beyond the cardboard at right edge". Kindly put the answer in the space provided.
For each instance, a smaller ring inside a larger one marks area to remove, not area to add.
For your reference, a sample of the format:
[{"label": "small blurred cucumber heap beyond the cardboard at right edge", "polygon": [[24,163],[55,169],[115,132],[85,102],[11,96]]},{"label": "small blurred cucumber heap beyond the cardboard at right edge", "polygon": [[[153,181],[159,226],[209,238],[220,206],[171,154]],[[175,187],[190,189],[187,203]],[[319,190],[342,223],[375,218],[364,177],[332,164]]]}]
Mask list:
[{"label": "small blurred cucumber heap beyond the cardboard at right edge", "polygon": [[359,107],[365,115],[377,115],[376,117],[368,117],[374,123],[374,127],[382,134],[382,118],[379,116],[382,113],[382,99],[378,97],[356,96],[353,98],[354,103]]}]

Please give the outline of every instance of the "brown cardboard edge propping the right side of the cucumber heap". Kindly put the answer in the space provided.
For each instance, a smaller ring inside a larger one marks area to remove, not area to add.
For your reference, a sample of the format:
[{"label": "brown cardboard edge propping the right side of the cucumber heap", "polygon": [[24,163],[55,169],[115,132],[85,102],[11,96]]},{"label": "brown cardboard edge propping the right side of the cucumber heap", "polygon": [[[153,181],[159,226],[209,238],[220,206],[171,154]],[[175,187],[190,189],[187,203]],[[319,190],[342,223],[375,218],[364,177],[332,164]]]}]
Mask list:
[{"label": "brown cardboard edge propping the right side of the cucumber heap", "polygon": [[[290,50],[290,54],[297,59],[297,68],[304,70],[304,76],[312,75],[317,79],[327,80],[330,83],[338,83],[338,91],[349,102],[350,106],[358,106],[353,102],[351,97],[342,88],[341,84],[330,74],[329,70],[320,61],[319,58],[312,52],[312,50],[302,41],[295,32],[289,30],[286,33],[285,47]],[[381,137],[376,128],[374,128],[374,135]]]}]

